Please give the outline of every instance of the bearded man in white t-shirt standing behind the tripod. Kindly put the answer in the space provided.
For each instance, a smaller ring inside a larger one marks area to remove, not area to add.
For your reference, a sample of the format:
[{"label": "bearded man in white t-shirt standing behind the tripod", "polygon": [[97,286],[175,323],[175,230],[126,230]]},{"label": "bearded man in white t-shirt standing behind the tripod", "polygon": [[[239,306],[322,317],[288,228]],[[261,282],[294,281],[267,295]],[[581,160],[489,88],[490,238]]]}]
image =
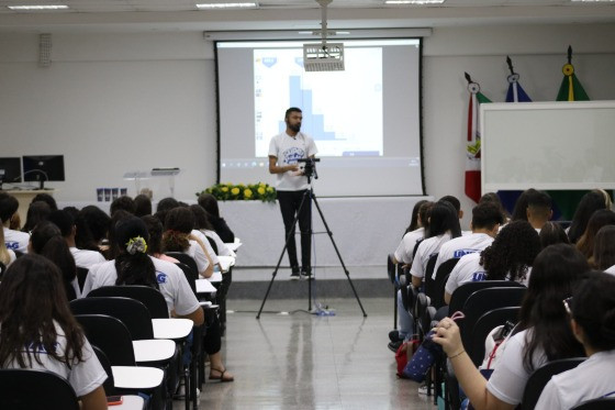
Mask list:
[{"label": "bearded man in white t-shirt standing behind the tripod", "polygon": [[[301,231],[301,276],[310,277],[312,275],[310,262],[312,203],[306,196],[310,187],[308,177],[299,167],[298,159],[313,158],[317,149],[314,140],[300,132],[302,120],[303,115],[299,108],[289,108],[284,115],[286,131],[273,136],[269,144],[269,173],[277,174],[278,177],[276,190],[288,239],[287,250],[292,269],[291,279],[294,280],[300,278],[293,224],[297,215],[299,215],[299,230]],[[304,201],[303,198],[305,198]],[[303,206],[301,206],[302,201]]]}]

